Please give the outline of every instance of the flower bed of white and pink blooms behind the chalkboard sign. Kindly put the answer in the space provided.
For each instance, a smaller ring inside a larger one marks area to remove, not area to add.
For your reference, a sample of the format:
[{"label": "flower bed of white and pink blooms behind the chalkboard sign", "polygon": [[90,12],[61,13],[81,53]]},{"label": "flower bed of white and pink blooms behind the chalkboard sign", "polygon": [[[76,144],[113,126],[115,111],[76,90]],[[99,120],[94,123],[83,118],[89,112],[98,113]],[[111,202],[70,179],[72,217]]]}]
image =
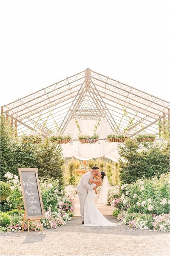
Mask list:
[{"label": "flower bed of white and pink blooms behind the chalkboard sign", "polygon": [[[11,173],[5,174],[12,193],[6,198],[1,214],[1,232],[20,231],[23,221],[23,197],[20,189],[19,179]],[[40,180],[42,202],[45,210],[45,219],[41,220],[44,228],[57,228],[66,224],[74,216],[74,186],[59,187],[59,180]],[[10,210],[11,209],[11,210]],[[25,221],[24,230],[27,230]],[[39,231],[40,225],[37,221],[30,221],[30,230]]]}]

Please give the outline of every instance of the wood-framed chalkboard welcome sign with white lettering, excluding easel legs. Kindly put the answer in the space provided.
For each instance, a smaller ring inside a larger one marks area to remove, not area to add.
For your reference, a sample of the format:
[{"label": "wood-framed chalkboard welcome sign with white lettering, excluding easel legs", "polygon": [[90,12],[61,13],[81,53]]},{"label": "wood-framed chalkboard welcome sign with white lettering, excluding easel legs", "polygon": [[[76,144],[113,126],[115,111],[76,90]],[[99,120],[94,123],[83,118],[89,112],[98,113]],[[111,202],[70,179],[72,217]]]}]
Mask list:
[{"label": "wood-framed chalkboard welcome sign with white lettering, excluding easel legs", "polygon": [[45,218],[37,168],[18,168],[23,193],[25,219]]}]

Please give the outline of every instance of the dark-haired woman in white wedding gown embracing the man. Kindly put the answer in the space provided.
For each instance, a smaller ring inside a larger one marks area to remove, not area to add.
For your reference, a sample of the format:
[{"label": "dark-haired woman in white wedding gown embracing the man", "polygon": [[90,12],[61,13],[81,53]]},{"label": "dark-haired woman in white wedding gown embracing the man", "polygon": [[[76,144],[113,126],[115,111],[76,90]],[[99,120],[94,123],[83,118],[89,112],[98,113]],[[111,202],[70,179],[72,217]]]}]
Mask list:
[{"label": "dark-haired woman in white wedding gown embracing the man", "polygon": [[[91,186],[99,187],[102,185],[102,180],[105,177],[105,172],[101,171],[97,174],[98,179],[94,180],[94,172],[91,171],[91,177],[89,182]],[[85,206],[84,206],[84,226],[117,226],[121,225],[108,221],[101,212],[96,208],[94,203],[94,198],[96,193],[94,190],[88,190],[87,197],[85,199]]]}]

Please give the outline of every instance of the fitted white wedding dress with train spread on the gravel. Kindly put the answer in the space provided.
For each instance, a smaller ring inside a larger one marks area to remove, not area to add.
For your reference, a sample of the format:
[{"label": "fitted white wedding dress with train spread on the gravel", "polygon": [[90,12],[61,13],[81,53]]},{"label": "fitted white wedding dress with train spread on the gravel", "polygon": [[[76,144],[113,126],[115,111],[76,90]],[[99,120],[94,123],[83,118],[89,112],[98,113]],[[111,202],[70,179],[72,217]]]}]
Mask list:
[{"label": "fitted white wedding dress with train spread on the gravel", "polygon": [[[96,186],[96,184],[92,183],[91,186]],[[88,190],[87,197],[85,199],[84,206],[84,226],[117,226],[121,225],[121,223],[116,224],[111,221],[108,221],[101,212],[96,208],[94,198],[96,197],[96,193],[94,190]]]}]

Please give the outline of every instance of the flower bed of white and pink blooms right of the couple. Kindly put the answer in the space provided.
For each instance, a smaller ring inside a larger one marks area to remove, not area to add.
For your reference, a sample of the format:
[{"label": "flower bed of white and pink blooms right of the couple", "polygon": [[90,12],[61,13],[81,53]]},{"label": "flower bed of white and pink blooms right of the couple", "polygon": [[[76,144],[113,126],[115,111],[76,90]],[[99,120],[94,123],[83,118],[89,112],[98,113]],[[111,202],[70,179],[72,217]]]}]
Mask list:
[{"label": "flower bed of white and pink blooms right of the couple", "polygon": [[[123,184],[119,192],[112,194],[108,199],[108,203],[116,209],[113,215],[117,215],[118,220],[129,227],[168,231],[170,228],[168,180],[169,174],[162,174],[160,179],[157,177],[139,179],[132,184]],[[115,188],[111,188],[113,189]]]}]

